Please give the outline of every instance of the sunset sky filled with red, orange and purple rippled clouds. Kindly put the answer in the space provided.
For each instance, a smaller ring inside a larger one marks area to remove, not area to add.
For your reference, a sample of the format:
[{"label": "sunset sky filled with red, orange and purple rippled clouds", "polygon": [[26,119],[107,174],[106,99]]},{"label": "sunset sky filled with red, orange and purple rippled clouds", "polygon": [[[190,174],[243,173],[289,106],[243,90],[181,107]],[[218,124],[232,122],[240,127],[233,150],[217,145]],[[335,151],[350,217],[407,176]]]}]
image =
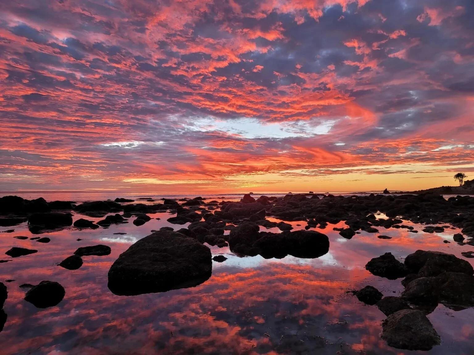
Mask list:
[{"label": "sunset sky filled with red, orange and purple rippled clouds", "polygon": [[474,177],[472,0],[11,0],[0,190]]}]

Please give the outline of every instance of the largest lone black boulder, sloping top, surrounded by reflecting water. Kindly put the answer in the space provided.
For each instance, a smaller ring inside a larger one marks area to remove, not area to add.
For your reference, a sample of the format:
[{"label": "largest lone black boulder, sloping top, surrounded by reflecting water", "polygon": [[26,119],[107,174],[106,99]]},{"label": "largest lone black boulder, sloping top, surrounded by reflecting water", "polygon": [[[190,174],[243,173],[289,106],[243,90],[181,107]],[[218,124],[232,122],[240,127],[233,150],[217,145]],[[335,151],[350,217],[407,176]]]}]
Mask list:
[{"label": "largest lone black boulder, sloping top, surrounded by reflecting water", "polygon": [[202,284],[212,273],[208,247],[174,231],[138,240],[109,269],[109,289],[117,295],[165,292]]}]

